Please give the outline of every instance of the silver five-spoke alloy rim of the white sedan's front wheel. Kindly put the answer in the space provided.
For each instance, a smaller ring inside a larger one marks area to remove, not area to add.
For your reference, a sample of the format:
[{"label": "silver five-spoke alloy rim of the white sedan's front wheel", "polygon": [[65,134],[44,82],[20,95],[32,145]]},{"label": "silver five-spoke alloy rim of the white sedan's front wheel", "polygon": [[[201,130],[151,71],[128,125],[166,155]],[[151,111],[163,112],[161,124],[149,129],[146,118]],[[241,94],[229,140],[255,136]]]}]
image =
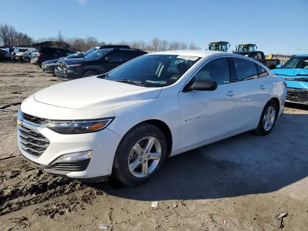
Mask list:
[{"label": "silver five-spoke alloy rim of the white sedan's front wheel", "polygon": [[128,168],[134,177],[143,178],[151,174],[159,164],[162,147],[154,137],[139,140],[131,149]]}]

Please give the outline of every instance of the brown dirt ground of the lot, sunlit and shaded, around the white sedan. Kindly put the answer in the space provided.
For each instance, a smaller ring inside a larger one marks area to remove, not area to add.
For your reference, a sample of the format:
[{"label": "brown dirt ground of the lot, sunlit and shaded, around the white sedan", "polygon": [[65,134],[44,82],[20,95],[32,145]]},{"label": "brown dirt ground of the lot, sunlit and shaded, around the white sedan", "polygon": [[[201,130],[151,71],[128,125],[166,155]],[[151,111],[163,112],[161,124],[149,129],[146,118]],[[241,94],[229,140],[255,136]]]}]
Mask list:
[{"label": "brown dirt ground of the lot, sunlit and shaded, around the white sedan", "polygon": [[[0,63],[0,107],[53,84],[31,64]],[[269,136],[169,158],[136,188],[45,174],[19,155],[16,113],[0,111],[0,230],[308,230],[308,107],[286,106]]]}]

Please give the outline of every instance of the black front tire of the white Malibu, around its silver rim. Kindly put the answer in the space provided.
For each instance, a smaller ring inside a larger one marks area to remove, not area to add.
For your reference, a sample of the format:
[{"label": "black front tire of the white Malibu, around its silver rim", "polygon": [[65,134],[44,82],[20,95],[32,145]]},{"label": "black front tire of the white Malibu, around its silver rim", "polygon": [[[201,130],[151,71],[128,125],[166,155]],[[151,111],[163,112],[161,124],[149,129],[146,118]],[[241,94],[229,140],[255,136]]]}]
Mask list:
[{"label": "black front tire of the white Malibu, around its silver rim", "polygon": [[[149,144],[149,140],[152,141],[153,146],[150,150],[146,150],[145,147]],[[140,145],[139,147],[142,147],[142,149],[138,151],[141,155],[138,155],[137,151],[135,152],[133,150],[138,143]],[[158,157],[156,155],[159,151],[161,153],[160,159],[152,159]],[[167,141],[164,133],[158,127],[151,124],[139,124],[129,130],[122,138],[117,152],[115,153],[112,175],[128,186],[141,185],[157,174],[166,156]],[[128,166],[129,164],[132,165],[132,163],[136,163],[137,166],[134,170]],[[144,171],[144,166],[148,166],[147,171]],[[147,172],[147,174],[144,175],[145,172]]]}]

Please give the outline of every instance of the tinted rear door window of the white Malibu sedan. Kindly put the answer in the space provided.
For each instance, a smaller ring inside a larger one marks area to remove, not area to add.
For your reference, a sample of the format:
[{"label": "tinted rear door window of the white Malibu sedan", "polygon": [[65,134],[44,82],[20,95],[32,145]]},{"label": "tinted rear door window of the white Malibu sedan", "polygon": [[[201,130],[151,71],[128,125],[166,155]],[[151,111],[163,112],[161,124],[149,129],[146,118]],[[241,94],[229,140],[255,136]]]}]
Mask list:
[{"label": "tinted rear door window of the white Malibu sedan", "polygon": [[232,58],[236,70],[236,81],[258,79],[257,67],[254,62]]}]

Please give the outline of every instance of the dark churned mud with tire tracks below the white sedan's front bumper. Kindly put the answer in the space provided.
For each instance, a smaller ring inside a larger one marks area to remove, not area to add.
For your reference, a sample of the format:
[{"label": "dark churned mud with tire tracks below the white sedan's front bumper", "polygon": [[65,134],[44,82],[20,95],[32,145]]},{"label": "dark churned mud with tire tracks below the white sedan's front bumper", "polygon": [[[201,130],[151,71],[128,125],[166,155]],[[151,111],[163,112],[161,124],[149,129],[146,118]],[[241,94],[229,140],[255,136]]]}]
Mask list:
[{"label": "dark churned mud with tire tracks below the white sedan's front bumper", "polygon": [[48,175],[21,158],[0,164],[0,169],[5,171],[0,178],[0,216],[87,187],[80,182]]}]

